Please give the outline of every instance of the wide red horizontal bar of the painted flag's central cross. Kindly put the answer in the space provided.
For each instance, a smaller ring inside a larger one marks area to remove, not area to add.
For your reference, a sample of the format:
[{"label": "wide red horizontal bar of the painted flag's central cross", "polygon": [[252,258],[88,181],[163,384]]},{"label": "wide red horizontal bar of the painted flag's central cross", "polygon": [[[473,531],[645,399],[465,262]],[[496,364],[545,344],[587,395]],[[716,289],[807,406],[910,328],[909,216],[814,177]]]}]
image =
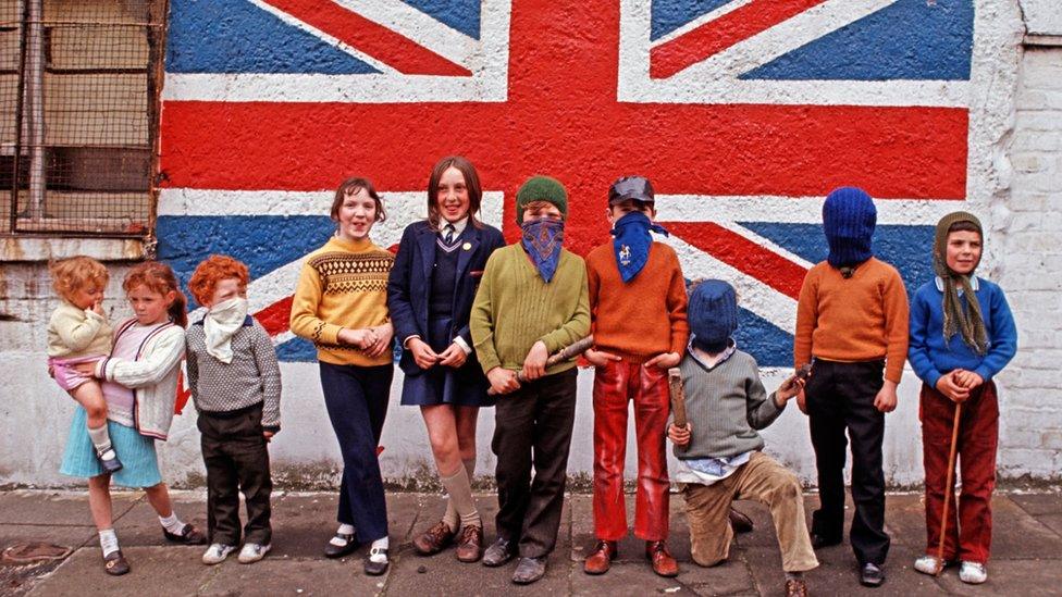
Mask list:
[{"label": "wide red horizontal bar of the painted flag's central cross", "polygon": [[[484,188],[506,192],[549,172],[569,195],[597,197],[617,173],[639,172],[659,194],[825,196],[856,185],[880,199],[966,196],[962,109],[582,99],[563,111],[171,101],[162,169],[172,187],[320,190],[359,174],[376,188],[408,190],[423,187],[439,156],[458,152],[477,164]],[[638,151],[625,139],[638,139]],[[589,200],[573,208],[583,204],[596,214]]]}]

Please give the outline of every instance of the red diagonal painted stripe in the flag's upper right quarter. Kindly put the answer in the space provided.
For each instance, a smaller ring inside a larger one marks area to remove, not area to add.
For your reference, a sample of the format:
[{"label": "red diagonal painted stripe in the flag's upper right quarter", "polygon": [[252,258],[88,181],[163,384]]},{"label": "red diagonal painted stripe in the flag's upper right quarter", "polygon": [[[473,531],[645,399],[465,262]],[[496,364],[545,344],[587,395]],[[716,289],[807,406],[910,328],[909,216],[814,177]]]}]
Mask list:
[{"label": "red diagonal painted stripe in the flag's upper right quarter", "polygon": [[667,78],[826,0],[753,0],[650,51],[652,78]]}]

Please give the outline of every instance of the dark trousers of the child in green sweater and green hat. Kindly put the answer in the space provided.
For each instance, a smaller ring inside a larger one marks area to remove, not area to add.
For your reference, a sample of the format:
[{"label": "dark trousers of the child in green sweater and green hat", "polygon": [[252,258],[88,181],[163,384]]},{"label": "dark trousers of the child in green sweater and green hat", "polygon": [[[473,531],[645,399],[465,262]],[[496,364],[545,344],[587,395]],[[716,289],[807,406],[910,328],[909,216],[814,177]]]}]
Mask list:
[{"label": "dark trousers of the child in green sweater and green hat", "polygon": [[[520,556],[553,551],[576,419],[575,369],[526,382],[494,407],[497,456],[498,536],[519,545]],[[531,467],[534,465],[534,480]]]}]

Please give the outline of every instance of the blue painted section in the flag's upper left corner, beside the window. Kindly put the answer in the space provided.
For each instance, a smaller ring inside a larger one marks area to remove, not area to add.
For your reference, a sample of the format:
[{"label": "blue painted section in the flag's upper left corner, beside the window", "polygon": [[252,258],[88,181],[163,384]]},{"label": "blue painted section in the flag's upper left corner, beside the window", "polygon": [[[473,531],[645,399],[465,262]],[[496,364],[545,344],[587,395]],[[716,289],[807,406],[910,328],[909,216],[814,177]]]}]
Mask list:
[{"label": "blue painted section in the flag's upper left corner, beside the window", "polygon": [[378,73],[247,0],[171,0],[171,73]]}]

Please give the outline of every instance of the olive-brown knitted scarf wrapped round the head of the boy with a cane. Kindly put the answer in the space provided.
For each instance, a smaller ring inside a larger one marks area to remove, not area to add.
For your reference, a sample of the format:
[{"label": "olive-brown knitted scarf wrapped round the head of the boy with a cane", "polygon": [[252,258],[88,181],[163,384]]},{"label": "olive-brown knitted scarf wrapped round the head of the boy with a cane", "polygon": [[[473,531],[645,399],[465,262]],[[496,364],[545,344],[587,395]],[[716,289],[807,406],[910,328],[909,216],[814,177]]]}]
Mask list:
[{"label": "olive-brown knitted scarf wrapped round the head of the boy with a cane", "polygon": [[[948,266],[948,229],[959,222],[973,224],[981,237],[981,242],[985,239],[985,231],[980,225],[980,220],[977,220],[977,216],[972,213],[952,212],[941,217],[940,222],[937,223],[937,233],[933,244],[933,269],[944,283],[942,307],[944,340],[948,341],[955,334],[960,334],[966,346],[978,355],[984,355],[988,351],[988,333],[985,329],[980,302],[977,300],[963,301],[959,296],[959,289],[955,288],[958,284],[964,296],[975,297],[976,294],[970,282],[970,276],[974,275],[974,272],[959,274]],[[979,262],[974,265],[975,270]],[[963,302],[966,303],[965,309],[963,309]]]}]

